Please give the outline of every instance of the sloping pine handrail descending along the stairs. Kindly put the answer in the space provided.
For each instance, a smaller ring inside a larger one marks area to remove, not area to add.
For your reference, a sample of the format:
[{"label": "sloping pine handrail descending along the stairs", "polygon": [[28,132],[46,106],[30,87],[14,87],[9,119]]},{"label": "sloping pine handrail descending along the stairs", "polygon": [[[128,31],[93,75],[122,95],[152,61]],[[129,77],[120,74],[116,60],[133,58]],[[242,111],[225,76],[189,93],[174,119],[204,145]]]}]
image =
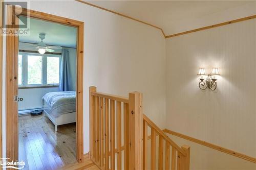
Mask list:
[{"label": "sloping pine handrail descending along the stairs", "polygon": [[154,122],[152,122],[152,120],[148,118],[145,114],[143,114],[143,119],[147,122],[148,126],[155,129],[156,132],[161,135],[166,141],[168,141],[172,147],[179,151],[183,156],[186,156],[186,153],[172,139],[164,134],[164,132],[156,124],[154,124]]}]

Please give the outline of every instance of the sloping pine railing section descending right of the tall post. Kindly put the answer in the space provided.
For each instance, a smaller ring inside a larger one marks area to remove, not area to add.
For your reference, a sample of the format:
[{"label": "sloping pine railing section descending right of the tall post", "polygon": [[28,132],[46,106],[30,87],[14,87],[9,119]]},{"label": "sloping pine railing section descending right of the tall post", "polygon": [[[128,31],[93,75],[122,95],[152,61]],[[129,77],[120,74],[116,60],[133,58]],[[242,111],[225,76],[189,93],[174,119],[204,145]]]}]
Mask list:
[{"label": "sloping pine railing section descending right of the tall post", "polygon": [[[148,136],[148,127],[151,135]],[[156,148],[158,135],[158,148]],[[151,140],[151,151],[148,153],[148,138]],[[145,140],[144,140],[145,139]],[[165,149],[165,151],[164,151]],[[158,151],[158,168],[156,168],[156,152]],[[170,154],[172,153],[172,154]],[[143,169],[149,169],[147,157],[150,155],[150,169],[159,170],[188,170],[190,147],[183,145],[181,148],[170,139],[159,127],[156,126],[145,114],[143,115]]]}]

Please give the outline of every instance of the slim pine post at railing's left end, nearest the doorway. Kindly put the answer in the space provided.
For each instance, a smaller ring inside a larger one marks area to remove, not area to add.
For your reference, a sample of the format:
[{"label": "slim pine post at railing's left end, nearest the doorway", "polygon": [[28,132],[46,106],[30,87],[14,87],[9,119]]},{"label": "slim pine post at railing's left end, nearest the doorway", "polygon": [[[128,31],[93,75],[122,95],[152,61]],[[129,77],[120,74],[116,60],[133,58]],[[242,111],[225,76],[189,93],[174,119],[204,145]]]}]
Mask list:
[{"label": "slim pine post at railing's left end, nearest the doorway", "polygon": [[94,143],[94,113],[95,113],[95,100],[94,100],[94,96],[91,95],[91,92],[96,92],[96,87],[95,86],[90,86],[89,88],[89,107],[90,107],[90,159],[94,159],[95,158],[95,153],[94,153],[94,147],[95,147],[95,143]]}]

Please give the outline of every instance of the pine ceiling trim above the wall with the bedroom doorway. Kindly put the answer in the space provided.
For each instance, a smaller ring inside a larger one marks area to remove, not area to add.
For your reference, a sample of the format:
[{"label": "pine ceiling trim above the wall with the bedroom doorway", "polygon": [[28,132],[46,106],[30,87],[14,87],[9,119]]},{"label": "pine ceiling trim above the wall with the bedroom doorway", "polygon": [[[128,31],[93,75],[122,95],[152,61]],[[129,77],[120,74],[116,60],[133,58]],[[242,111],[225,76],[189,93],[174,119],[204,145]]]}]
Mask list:
[{"label": "pine ceiling trim above the wall with the bedroom doorway", "polygon": [[123,17],[125,17],[125,18],[132,19],[132,20],[135,20],[135,21],[144,23],[145,25],[148,25],[148,26],[154,27],[154,28],[156,28],[156,29],[159,29],[159,30],[161,30],[163,36],[165,37],[165,34],[164,34],[164,32],[163,32],[163,29],[161,29],[160,27],[154,26],[154,25],[152,25],[151,23],[147,23],[147,22],[144,22],[144,21],[142,21],[142,20],[139,20],[139,19],[136,19],[136,18],[133,18],[133,17],[130,17],[130,16],[127,16],[127,15],[124,15],[124,14],[121,14],[121,13],[118,13],[118,12],[115,12],[115,11],[112,11],[112,10],[109,10],[109,9],[106,9],[106,8],[102,8],[102,7],[100,7],[100,6],[97,6],[97,5],[88,3],[88,2],[84,2],[84,1],[81,1],[81,0],[75,0],[75,1],[77,1],[77,2],[79,2],[79,3],[86,4],[86,5],[90,5],[90,6],[92,6],[92,7],[95,7],[95,8],[104,10],[104,11],[111,12],[111,13],[116,14],[116,15],[123,16]]}]

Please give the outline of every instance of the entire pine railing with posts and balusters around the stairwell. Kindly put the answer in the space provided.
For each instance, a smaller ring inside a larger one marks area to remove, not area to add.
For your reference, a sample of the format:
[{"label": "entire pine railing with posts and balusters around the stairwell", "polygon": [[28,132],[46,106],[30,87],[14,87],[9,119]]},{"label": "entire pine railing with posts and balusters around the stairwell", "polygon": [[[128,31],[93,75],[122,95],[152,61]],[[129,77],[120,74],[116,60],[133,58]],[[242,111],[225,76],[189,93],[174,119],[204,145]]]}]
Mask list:
[{"label": "entire pine railing with posts and balusters around the stairwell", "polygon": [[190,147],[179,147],[143,114],[142,93],[124,98],[91,86],[90,159],[102,170],[188,170]]}]

